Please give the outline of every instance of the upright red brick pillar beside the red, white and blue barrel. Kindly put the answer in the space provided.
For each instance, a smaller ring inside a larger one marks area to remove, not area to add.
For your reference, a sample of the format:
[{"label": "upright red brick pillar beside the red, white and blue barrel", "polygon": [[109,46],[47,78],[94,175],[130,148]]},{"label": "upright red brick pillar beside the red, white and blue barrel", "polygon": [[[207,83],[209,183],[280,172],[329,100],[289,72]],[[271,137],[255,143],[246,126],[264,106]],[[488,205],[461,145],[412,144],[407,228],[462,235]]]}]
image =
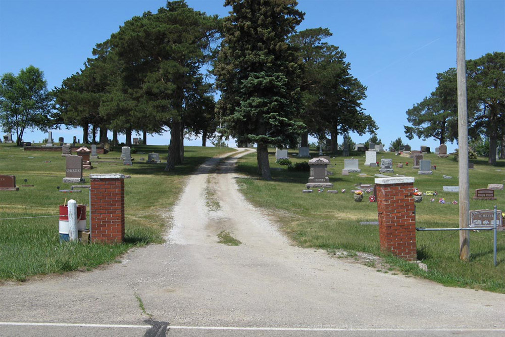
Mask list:
[{"label": "upright red brick pillar beside the red, white and blue barrel", "polygon": [[91,242],[120,243],[125,238],[125,176],[90,174]]}]

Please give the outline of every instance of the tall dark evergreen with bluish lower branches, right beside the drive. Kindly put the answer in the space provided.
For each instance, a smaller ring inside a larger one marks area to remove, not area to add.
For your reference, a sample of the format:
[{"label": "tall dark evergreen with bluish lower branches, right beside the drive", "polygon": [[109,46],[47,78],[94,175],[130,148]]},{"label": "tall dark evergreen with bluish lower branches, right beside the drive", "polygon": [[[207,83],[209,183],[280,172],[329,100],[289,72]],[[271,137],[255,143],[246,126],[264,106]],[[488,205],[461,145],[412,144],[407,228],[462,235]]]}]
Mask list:
[{"label": "tall dark evergreen with bluish lower branches, right beside the drive", "polygon": [[223,42],[215,65],[217,111],[229,133],[256,142],[258,172],[270,180],[268,145],[294,144],[304,125],[300,60],[287,42],[303,20],[295,0],[226,0]]}]

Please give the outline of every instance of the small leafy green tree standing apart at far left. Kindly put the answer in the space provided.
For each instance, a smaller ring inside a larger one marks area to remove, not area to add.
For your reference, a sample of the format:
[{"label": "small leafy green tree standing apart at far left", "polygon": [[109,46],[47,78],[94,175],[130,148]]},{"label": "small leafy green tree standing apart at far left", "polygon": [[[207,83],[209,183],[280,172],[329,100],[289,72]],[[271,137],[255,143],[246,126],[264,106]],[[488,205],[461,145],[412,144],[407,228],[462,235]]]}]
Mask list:
[{"label": "small leafy green tree standing apart at far left", "polygon": [[17,76],[5,73],[0,78],[0,124],[4,131],[16,131],[18,146],[26,129],[47,130],[52,102],[44,74],[34,66],[21,69]]}]

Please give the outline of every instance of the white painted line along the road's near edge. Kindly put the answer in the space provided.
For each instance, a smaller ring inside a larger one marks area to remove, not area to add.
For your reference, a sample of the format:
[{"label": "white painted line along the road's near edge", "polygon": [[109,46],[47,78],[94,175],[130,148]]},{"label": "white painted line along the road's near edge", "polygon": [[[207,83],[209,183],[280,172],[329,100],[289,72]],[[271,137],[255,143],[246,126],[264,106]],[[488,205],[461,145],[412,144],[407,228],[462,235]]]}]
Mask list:
[{"label": "white painted line along the road's near edge", "polygon": [[[129,325],[129,324],[86,324],[86,323],[30,323],[30,322],[0,322],[2,325],[15,326],[63,326],[63,327],[110,327],[110,328],[136,328],[147,329],[150,325]],[[184,330],[257,330],[257,331],[504,331],[503,328],[310,328],[310,327],[260,327],[260,326],[183,326],[169,325],[169,329]]]}]

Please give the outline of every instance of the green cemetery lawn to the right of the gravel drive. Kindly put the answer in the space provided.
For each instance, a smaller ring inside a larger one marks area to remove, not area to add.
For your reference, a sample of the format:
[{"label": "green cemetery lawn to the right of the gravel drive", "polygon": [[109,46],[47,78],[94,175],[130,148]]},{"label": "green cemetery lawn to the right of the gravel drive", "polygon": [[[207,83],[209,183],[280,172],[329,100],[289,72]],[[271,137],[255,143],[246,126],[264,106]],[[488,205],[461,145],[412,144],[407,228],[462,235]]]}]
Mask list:
[{"label": "green cemetery lawn to the right of the gravel drive", "polygon": [[[295,152],[289,152],[293,163],[307,161],[291,157]],[[315,153],[313,154],[315,155]],[[350,157],[346,157],[347,159]],[[462,262],[459,259],[459,234],[457,231],[417,232],[418,259],[427,264],[428,272],[424,272],[416,265],[402,260],[384,256],[379,251],[378,226],[360,225],[360,222],[377,221],[377,204],[368,202],[368,195],[363,202],[355,202],[351,189],[358,183],[374,183],[374,174],[378,168],[364,166],[363,155],[356,154],[360,159],[362,173],[359,176],[350,173],[341,175],[344,157],[331,160],[329,171],[330,181],[334,184],[338,194],[327,194],[326,191],[313,194],[302,194],[308,181],[308,172],[291,172],[286,166],[275,163],[274,152],[270,153],[273,181],[267,182],[258,178],[256,174],[256,155],[243,157],[238,169],[249,177],[239,180],[243,194],[252,203],[266,208],[278,218],[283,230],[291,239],[302,247],[326,249],[344,249],[350,252],[368,252],[382,256],[385,261],[403,273],[420,275],[431,280],[451,286],[472,287],[505,293],[505,231],[498,232],[498,266],[493,265],[493,233],[491,231],[471,232],[470,250],[471,261]],[[412,158],[395,156],[393,153],[380,153],[377,160],[391,158],[394,174],[415,177],[414,186],[420,191],[437,191],[436,201],[431,203],[430,197],[424,197],[416,204],[417,227],[459,227],[459,206],[452,205],[458,201],[458,193],[443,192],[444,185],[458,185],[458,162],[452,156],[438,158],[434,154],[425,155],[432,165],[436,165],[433,175],[418,175],[412,169]],[[470,160],[475,168],[470,170],[470,195],[474,195],[476,188],[485,188],[488,183],[504,183],[505,162],[498,161],[495,166],[487,164],[485,158]],[[409,166],[406,166],[409,162]],[[396,164],[403,163],[403,168],[396,168]],[[452,176],[444,179],[442,175]],[[342,194],[341,189],[346,189]],[[492,209],[494,205],[505,211],[505,191],[496,190],[495,201],[471,201],[470,209]],[[444,198],[446,204],[439,204],[439,198]],[[372,266],[372,265],[371,265]]]}]

